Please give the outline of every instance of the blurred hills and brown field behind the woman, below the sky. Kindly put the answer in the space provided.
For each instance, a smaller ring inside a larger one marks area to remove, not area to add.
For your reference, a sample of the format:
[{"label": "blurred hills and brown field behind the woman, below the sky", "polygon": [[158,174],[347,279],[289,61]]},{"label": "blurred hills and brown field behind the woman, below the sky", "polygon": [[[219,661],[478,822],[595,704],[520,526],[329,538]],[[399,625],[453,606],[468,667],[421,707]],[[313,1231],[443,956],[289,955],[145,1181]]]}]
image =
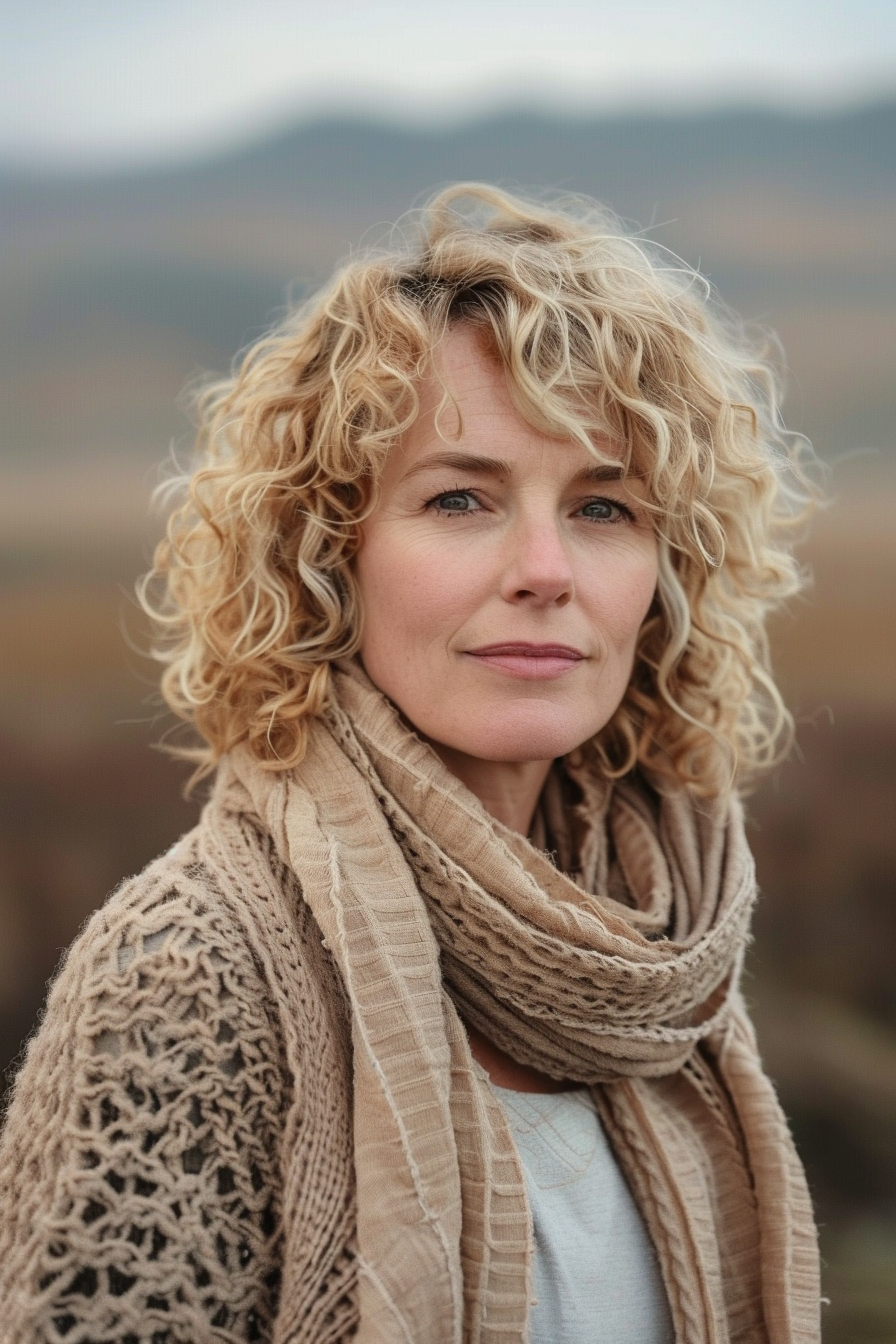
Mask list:
[{"label": "blurred hills and brown field behind the woman, below the sky", "polygon": [[701,263],[780,333],[789,421],[833,464],[814,587],[774,629],[799,749],[751,806],[747,992],[818,1202],[827,1344],[896,1344],[896,105],[332,124],[169,173],[0,171],[0,1064],[82,919],[196,814],[133,648],[184,383],[463,176],[590,191]]}]

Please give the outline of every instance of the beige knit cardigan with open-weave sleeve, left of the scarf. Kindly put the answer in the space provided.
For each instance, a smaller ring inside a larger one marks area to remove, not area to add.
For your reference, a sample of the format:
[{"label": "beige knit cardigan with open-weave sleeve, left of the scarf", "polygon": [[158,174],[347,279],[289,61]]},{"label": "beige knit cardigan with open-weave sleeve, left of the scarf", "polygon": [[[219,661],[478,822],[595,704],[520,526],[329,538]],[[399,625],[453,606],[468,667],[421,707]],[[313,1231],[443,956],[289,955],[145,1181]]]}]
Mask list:
[{"label": "beige knit cardigan with open-weave sleeve, left of the scarf", "polygon": [[263,890],[224,886],[206,839],[120,887],[52,986],[0,1146],[4,1344],[356,1325],[340,978],[270,837]]}]

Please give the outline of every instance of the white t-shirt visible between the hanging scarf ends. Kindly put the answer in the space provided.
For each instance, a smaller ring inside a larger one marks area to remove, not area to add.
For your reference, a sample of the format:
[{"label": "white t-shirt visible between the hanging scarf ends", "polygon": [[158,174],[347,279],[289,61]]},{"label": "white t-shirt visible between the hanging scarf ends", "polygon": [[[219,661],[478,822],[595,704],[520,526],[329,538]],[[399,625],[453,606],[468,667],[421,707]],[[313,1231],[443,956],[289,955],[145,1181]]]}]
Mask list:
[{"label": "white t-shirt visible between the hanging scarf ends", "polygon": [[657,1255],[588,1090],[492,1086],[532,1210],[532,1344],[673,1344]]}]

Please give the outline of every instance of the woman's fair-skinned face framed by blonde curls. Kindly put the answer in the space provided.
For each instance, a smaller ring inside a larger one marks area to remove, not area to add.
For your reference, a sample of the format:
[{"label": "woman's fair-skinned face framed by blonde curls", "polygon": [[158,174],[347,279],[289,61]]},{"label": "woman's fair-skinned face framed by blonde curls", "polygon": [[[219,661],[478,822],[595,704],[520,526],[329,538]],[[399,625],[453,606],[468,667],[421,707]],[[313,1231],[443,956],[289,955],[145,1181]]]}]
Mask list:
[{"label": "woman's fair-skinned face framed by blonde curls", "polygon": [[521,419],[473,328],[453,328],[435,363],[462,431],[450,405],[437,431],[430,379],[364,523],[361,660],[454,761],[551,761],[625,694],[656,536],[637,482]]}]

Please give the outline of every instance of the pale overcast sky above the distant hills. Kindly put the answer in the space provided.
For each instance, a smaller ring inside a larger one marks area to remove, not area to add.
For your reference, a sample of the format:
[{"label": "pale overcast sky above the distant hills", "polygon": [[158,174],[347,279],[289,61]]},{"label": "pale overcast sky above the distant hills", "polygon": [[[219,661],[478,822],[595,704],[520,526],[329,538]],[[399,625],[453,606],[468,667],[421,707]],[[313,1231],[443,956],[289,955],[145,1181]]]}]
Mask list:
[{"label": "pale overcast sky above the distant hills", "polygon": [[896,0],[0,0],[0,157],[183,156],[321,110],[896,91]]}]

